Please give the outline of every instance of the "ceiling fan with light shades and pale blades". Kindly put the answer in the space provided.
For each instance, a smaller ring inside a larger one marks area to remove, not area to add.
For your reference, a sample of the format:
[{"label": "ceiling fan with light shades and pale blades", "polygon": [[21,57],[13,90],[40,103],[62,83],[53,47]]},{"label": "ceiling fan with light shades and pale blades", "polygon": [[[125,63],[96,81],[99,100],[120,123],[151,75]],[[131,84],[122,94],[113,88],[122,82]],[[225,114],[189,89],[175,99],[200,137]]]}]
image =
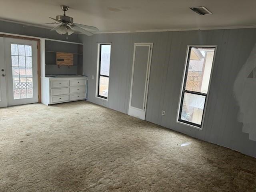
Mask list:
[{"label": "ceiling fan with light shades and pale blades", "polygon": [[[94,30],[94,31],[99,30],[98,28],[96,28],[94,26],[88,26],[88,25],[74,23],[72,17],[66,16],[66,11],[68,10],[68,8],[69,7],[66,5],[61,5],[61,9],[64,11],[64,14],[57,15],[55,19],[52,17],[49,17],[49,18],[55,20],[56,22],[42,23],[42,24],[37,24],[37,25],[59,24],[58,26],[52,28],[51,31],[56,31],[58,34],[61,34],[61,35],[66,34],[66,33],[68,35],[71,35],[74,33],[74,30],[75,30],[75,31],[81,32],[82,34],[91,36],[93,34],[89,31],[85,30],[84,28]],[[27,27],[27,26],[33,26],[33,25],[24,25],[23,27]]]}]

